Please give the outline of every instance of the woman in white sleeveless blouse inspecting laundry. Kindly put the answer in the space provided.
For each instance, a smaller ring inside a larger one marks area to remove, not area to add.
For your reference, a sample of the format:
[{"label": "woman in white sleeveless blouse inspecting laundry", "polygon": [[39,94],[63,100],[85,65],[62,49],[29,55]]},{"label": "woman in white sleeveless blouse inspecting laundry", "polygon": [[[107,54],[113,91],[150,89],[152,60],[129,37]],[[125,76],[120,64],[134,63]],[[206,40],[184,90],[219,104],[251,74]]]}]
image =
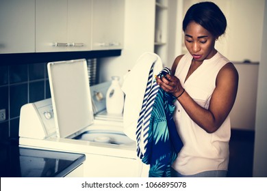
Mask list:
[{"label": "woman in white sleeveless blouse inspecting laundry", "polygon": [[238,72],[214,48],[227,20],[212,2],[192,5],[183,19],[186,55],[172,74],[157,83],[175,102],[175,124],[183,148],[172,166],[174,177],[226,177],[231,126],[229,113],[238,91]]}]

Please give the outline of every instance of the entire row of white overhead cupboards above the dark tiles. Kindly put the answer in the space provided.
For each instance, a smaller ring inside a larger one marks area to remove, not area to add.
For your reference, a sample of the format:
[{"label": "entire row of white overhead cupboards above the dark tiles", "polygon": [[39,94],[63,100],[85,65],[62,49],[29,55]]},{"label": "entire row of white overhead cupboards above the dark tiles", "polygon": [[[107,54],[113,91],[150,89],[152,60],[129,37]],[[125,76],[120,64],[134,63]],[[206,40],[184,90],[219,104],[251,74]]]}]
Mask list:
[{"label": "entire row of white overhead cupboards above the dark tiles", "polygon": [[0,54],[122,49],[124,0],[1,0]]}]

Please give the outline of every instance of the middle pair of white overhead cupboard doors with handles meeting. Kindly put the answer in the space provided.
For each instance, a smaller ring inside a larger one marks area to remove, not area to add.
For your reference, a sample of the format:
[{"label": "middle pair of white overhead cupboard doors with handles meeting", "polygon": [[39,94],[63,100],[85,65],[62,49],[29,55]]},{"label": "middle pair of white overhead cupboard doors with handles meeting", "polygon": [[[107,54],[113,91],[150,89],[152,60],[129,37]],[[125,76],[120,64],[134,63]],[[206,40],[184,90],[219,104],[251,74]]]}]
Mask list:
[{"label": "middle pair of white overhead cupboard doors with handles meeting", "polygon": [[36,0],[36,52],[91,48],[91,0]]}]

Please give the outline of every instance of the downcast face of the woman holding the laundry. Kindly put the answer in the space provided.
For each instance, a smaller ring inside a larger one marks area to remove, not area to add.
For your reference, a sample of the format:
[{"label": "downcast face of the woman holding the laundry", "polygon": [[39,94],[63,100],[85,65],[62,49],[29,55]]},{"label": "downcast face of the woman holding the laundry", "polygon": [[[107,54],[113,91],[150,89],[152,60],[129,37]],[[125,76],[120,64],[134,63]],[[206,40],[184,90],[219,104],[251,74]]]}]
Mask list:
[{"label": "downcast face of the woman holding the laundry", "polygon": [[185,45],[195,61],[203,62],[216,54],[216,38],[201,25],[190,22],[185,30]]}]

